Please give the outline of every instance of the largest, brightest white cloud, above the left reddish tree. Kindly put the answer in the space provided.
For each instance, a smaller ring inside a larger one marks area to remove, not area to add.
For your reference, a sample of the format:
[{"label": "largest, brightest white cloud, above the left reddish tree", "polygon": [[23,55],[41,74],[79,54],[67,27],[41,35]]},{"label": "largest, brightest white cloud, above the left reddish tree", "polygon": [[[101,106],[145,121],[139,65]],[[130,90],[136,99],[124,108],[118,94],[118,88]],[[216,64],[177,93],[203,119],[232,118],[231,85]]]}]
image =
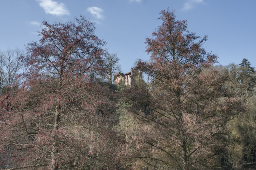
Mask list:
[{"label": "largest, brightest white cloud, above the left reddish tree", "polygon": [[69,11],[63,3],[58,3],[53,0],[36,0],[36,1],[44,9],[46,14],[52,14],[56,16],[69,15]]}]

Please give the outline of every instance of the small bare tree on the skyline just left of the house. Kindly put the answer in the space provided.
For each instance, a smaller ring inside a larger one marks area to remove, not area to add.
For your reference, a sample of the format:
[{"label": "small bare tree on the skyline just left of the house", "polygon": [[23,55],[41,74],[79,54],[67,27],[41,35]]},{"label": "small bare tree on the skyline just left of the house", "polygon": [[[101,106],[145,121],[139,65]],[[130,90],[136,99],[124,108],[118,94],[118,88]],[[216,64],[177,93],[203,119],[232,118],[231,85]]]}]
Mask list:
[{"label": "small bare tree on the skyline just left of the house", "polygon": [[112,84],[113,77],[116,72],[120,71],[120,59],[117,57],[116,53],[108,54],[105,57],[104,67],[106,68],[105,78],[108,80],[109,84]]}]

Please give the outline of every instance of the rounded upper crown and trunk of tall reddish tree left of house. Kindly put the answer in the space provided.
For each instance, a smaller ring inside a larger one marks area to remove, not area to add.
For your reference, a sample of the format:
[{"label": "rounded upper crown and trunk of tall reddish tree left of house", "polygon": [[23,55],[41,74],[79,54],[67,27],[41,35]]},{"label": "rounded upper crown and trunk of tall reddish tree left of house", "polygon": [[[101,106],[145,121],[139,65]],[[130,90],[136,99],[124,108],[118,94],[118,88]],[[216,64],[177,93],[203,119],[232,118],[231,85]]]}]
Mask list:
[{"label": "rounded upper crown and trunk of tall reddish tree left of house", "polygon": [[[94,24],[84,17],[67,23],[43,21],[40,43],[30,43],[27,46],[28,55],[22,62],[28,68],[25,76],[32,82],[43,84],[54,91],[60,100],[54,104],[53,145],[51,151],[51,169],[57,169],[58,129],[62,114],[66,107],[64,96],[69,82],[78,82],[86,77],[86,73],[94,72],[101,67],[102,45],[104,41],[94,35]],[[32,73],[32,74],[31,74]],[[54,98],[56,101],[56,98]],[[63,101],[62,101],[63,100]]]}]

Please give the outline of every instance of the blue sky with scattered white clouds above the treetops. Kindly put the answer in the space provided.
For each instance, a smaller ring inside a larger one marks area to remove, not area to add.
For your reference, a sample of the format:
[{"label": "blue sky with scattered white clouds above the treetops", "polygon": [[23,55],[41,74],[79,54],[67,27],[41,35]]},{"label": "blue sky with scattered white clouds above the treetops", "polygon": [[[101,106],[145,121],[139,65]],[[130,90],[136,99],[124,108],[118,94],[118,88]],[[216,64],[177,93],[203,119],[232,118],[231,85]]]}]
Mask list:
[{"label": "blue sky with scattered white clouds above the treetops", "polygon": [[96,35],[117,53],[122,72],[137,59],[147,60],[146,37],[161,25],[161,10],[175,10],[188,30],[208,35],[206,51],[221,65],[246,58],[256,67],[256,0],[0,0],[0,51],[25,49],[38,41],[43,20],[70,21],[85,15],[96,24]]}]

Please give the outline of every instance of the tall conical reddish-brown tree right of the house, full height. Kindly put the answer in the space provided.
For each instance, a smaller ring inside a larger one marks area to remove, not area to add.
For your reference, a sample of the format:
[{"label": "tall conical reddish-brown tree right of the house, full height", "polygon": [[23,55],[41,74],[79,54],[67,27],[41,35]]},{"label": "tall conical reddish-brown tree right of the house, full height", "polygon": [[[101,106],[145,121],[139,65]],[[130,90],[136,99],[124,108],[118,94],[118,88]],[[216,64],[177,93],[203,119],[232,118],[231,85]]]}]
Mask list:
[{"label": "tall conical reddish-brown tree right of the house, full height", "polygon": [[150,61],[137,63],[152,78],[152,112],[136,114],[150,121],[157,133],[146,143],[158,156],[145,159],[165,168],[207,167],[206,161],[217,163],[216,150],[222,148],[218,140],[226,121],[242,110],[240,100],[226,96],[224,77],[217,70],[206,69],[217,61],[202,47],[207,36],[190,33],[186,20],[175,20],[173,11],[160,14],[162,25],[146,39]]}]

